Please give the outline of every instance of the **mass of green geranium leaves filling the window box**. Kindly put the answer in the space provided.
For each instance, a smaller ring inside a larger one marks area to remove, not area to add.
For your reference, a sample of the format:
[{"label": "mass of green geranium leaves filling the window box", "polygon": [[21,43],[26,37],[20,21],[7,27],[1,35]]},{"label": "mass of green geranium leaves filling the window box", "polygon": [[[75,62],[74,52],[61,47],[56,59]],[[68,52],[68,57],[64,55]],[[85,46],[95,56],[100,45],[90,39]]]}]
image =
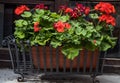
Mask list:
[{"label": "mass of green geranium leaves filling the window box", "polygon": [[[50,44],[54,48],[62,47],[61,52],[71,60],[79,55],[82,48],[106,51],[116,44],[116,38],[111,34],[114,27],[99,22],[98,13],[89,13],[88,16],[83,15],[74,19],[68,14],[32,9],[32,11],[24,11],[21,16],[21,19],[14,22],[14,35],[17,41],[30,40],[31,46]],[[69,23],[70,28],[65,29],[64,32],[56,31],[54,24],[58,21]],[[38,32],[34,32],[35,22],[39,23]]]}]

